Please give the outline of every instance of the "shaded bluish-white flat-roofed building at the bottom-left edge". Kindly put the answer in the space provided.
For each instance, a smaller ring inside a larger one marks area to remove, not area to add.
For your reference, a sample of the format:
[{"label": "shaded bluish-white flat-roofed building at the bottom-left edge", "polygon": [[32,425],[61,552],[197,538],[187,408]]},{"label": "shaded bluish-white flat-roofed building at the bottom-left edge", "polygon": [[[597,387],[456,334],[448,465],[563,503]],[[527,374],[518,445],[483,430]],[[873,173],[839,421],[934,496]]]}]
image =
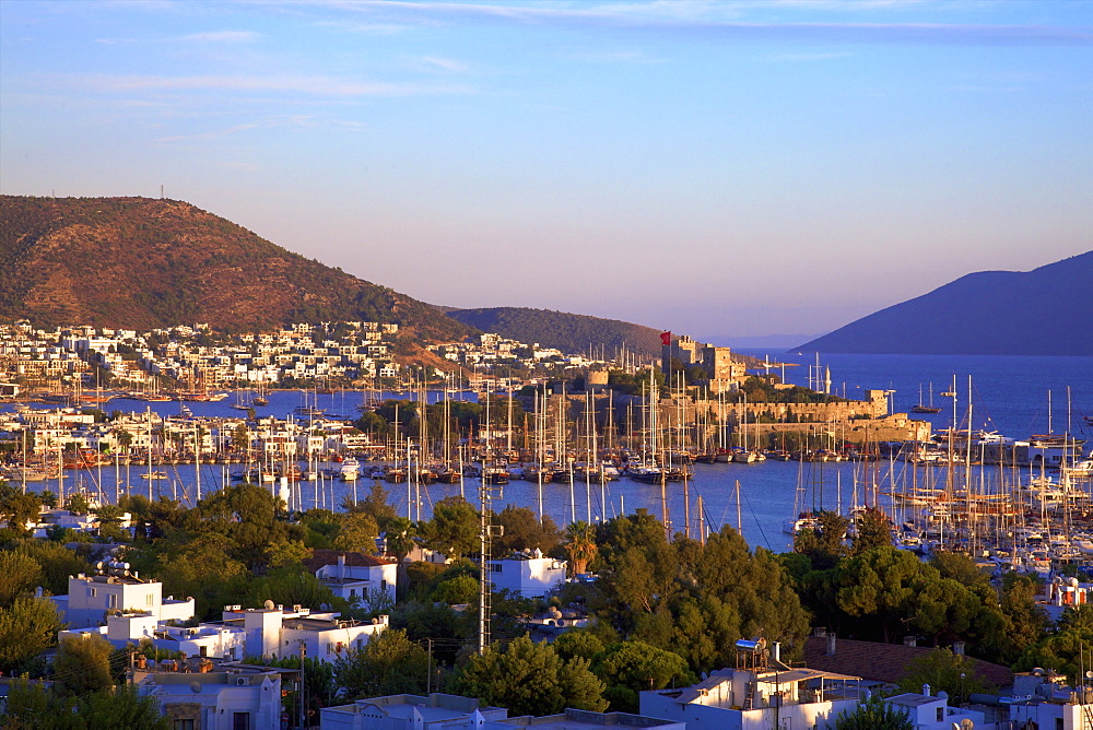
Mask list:
[{"label": "shaded bluish-white flat-roofed building at the bottom-left edge", "polygon": [[136,670],[133,683],[142,695],[160,702],[160,713],[172,728],[281,730],[281,673],[275,670]]}]

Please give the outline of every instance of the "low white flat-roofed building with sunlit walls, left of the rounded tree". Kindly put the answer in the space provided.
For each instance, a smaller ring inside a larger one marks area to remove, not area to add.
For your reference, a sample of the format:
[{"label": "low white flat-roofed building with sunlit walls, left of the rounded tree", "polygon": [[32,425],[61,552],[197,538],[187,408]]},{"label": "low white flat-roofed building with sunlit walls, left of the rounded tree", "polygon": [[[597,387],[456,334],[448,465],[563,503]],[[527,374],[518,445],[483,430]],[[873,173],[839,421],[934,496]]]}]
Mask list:
[{"label": "low white flat-roofed building with sunlit walls, left of the rounded tree", "polygon": [[301,646],[313,659],[333,661],[348,651],[357,651],[387,628],[387,616],[371,622],[342,621],[337,612],[313,613],[299,605],[285,611],[267,601],[265,609],[225,607],[224,626],[245,632],[245,656],[299,656]]}]

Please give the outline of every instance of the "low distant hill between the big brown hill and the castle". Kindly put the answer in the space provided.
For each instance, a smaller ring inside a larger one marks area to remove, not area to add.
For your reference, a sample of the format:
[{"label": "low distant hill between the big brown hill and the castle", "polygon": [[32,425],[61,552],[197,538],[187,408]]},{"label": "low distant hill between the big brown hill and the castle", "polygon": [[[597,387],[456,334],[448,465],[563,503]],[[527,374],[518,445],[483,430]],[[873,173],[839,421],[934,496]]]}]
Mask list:
[{"label": "low distant hill between the big brown hill and the castle", "polygon": [[566,353],[587,354],[588,345],[592,343],[597,352],[601,346],[604,348],[609,357],[621,348],[643,357],[660,357],[660,330],[618,319],[527,307],[444,307],[443,310],[453,319],[483,332],[496,332],[509,340],[528,344],[538,342],[544,348],[557,348]]}]

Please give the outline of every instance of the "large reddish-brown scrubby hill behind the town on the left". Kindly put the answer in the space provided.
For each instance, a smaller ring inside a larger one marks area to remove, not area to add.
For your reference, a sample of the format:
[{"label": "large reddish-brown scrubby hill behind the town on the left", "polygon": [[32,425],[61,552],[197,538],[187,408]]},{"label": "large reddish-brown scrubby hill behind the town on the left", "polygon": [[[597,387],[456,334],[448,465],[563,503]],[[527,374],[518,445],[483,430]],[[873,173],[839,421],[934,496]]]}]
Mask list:
[{"label": "large reddish-brown scrubby hill behind the town on the left", "polygon": [[473,329],[177,200],[0,196],[0,320],[228,331],[395,322],[411,338]]}]

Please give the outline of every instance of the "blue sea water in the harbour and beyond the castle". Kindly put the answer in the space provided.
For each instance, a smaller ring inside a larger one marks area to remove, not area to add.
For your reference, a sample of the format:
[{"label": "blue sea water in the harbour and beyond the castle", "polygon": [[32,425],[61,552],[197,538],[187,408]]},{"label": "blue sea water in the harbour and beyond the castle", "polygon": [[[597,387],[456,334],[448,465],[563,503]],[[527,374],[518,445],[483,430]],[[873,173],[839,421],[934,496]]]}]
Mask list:
[{"label": "blue sea water in the harbour and beyond the castle", "polygon": [[[862,398],[866,390],[886,390],[891,412],[906,412],[921,401],[941,407],[941,412],[915,415],[930,421],[935,428],[953,425],[966,428],[968,411],[975,429],[997,432],[1023,439],[1033,434],[1070,433],[1076,438],[1089,439],[1085,451],[1093,446],[1093,426],[1085,417],[1093,416],[1093,357],[1048,356],[977,356],[977,355],[860,355],[823,354],[819,365],[814,354],[742,350],[742,354],[772,363],[790,362],[797,366],[772,366],[772,372],[785,374],[795,385],[814,382],[816,374],[825,380],[830,372],[832,392],[851,399]],[[955,392],[953,397],[942,392]],[[921,395],[920,395],[921,393]],[[385,393],[384,397],[413,398],[406,393]],[[431,400],[438,396],[432,395]],[[456,393],[453,398],[473,400],[471,393]],[[310,391],[274,391],[270,405],[260,409],[262,414],[284,417],[299,405],[312,405],[337,413],[355,416],[356,407],[363,402],[360,391],[338,391],[333,395]],[[954,408],[955,400],[955,408]],[[195,416],[238,416],[235,402],[185,403]],[[178,415],[184,404],[178,402],[130,401],[115,399],[106,404],[107,411],[144,412],[151,409],[162,415]],[[320,464],[321,466],[321,464]],[[137,464],[104,467],[66,474],[66,493],[77,488],[101,492],[107,499],[117,492],[148,494],[177,498],[192,504],[198,495],[208,494],[230,482],[230,471],[238,466],[203,464],[200,474],[192,464],[156,467],[168,471],[160,481],[142,479],[146,469]],[[742,463],[696,463],[693,479],[673,482],[661,492],[659,485],[619,480],[606,485],[577,482],[573,485],[550,483],[541,487],[536,483],[512,481],[492,490],[491,506],[501,510],[507,505],[529,507],[537,514],[549,515],[564,526],[575,519],[598,522],[618,515],[647,509],[658,518],[667,517],[674,532],[697,538],[701,531],[716,531],[728,525],[741,530],[752,546],[763,546],[783,552],[790,546],[791,537],[784,525],[804,509],[824,508],[846,511],[863,499],[861,484],[868,479],[880,483],[896,484],[908,479],[916,467],[902,461],[801,463],[774,461]],[[921,469],[921,467],[917,468]],[[467,479],[462,484],[433,484],[414,488],[408,484],[387,484],[389,501],[400,514],[411,519],[428,519],[433,505],[446,496],[462,494],[474,505],[479,504],[478,480]],[[294,507],[308,509],[321,507],[339,509],[344,499],[361,498],[372,486],[368,480],[344,483],[337,480],[297,482],[290,485],[290,502]],[[48,487],[57,491],[56,480],[38,482],[31,488]],[[275,485],[268,488],[278,488]],[[700,509],[701,504],[701,509]]]}]

